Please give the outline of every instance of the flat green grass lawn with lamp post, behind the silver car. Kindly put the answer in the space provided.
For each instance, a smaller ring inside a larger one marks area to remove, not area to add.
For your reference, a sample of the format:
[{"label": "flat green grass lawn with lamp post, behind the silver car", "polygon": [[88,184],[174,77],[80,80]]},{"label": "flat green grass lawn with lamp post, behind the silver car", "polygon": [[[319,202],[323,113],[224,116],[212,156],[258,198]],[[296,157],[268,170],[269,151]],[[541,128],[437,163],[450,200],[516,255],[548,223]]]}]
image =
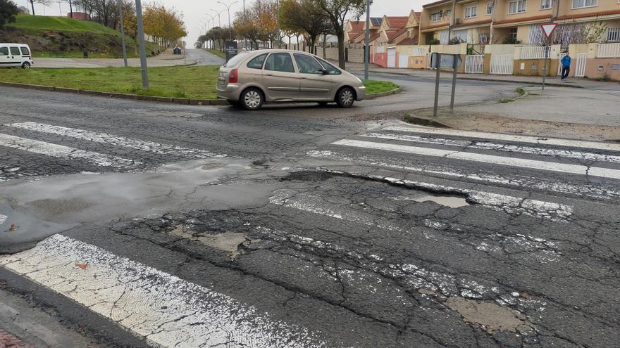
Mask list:
[{"label": "flat green grass lawn with lamp post, behind the silver car", "polygon": [[[217,98],[215,87],[219,67],[150,67],[151,88],[142,91],[138,67],[0,69],[0,81],[42,86],[87,89],[90,91],[140,94],[168,98]],[[385,81],[368,81],[366,93],[376,94],[398,88]]]}]

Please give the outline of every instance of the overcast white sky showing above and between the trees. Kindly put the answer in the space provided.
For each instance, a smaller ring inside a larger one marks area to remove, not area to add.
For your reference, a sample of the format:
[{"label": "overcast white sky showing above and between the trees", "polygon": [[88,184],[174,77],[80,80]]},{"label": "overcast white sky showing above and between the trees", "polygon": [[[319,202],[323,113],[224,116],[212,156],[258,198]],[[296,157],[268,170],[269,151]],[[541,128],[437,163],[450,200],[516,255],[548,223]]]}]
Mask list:
[{"label": "overcast white sky showing above and between the trees", "polygon": [[[30,9],[30,5],[26,0],[13,0],[19,6],[26,6]],[[221,0],[226,4],[233,3],[234,0]],[[246,4],[252,3],[252,0],[245,0]],[[149,4],[151,1],[142,0],[142,5]],[[373,17],[382,17],[383,15],[409,15],[409,11],[413,8],[416,11],[421,11],[422,4],[433,2],[433,0],[374,0],[374,4],[371,7],[371,15]],[[209,22],[209,28],[211,27],[211,18],[209,15],[215,15],[216,25],[219,25],[218,16],[216,11],[223,11],[220,15],[222,25],[228,25],[228,11],[225,6],[218,4],[216,0],[159,0],[158,4],[163,4],[167,7],[173,7],[183,13],[185,18],[185,27],[187,27],[187,46],[193,46],[197,37],[203,30],[204,23]],[[235,11],[240,11],[243,8],[243,0],[237,1],[236,4],[230,8],[230,15],[234,17]],[[62,13],[61,13],[62,11]],[[44,7],[42,5],[35,5],[35,13],[45,15],[66,15],[69,12],[69,4],[66,2],[59,3],[54,1],[51,6]],[[203,23],[202,23],[202,22]]]}]

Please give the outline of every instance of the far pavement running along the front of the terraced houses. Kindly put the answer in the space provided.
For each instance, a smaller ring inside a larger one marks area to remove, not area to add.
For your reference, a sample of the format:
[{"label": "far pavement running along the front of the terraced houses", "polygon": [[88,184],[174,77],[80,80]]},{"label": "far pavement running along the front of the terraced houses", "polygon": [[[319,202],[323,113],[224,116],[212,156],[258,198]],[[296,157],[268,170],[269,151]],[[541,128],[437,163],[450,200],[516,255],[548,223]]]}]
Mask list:
[{"label": "far pavement running along the front of the terraced houses", "polygon": [[[364,71],[364,64],[361,63],[347,63],[347,70],[349,71]],[[404,68],[392,68],[392,67],[380,67],[378,65],[371,64],[371,72],[380,72],[384,74],[398,74],[407,75],[412,77],[430,77],[435,78],[435,70],[420,70],[420,69],[404,69]],[[441,76],[444,78],[451,77],[452,73],[442,71]],[[515,75],[486,75],[486,74],[459,74],[457,79],[470,79],[470,80],[482,80],[482,81],[500,81],[519,84],[542,84],[543,77],[537,76],[515,76]],[[551,86],[567,86],[583,89],[602,89],[609,91],[620,91],[619,82],[598,82],[590,79],[581,79],[578,77],[569,78],[567,82],[560,82],[559,77],[552,76],[547,77],[547,84]]]}]

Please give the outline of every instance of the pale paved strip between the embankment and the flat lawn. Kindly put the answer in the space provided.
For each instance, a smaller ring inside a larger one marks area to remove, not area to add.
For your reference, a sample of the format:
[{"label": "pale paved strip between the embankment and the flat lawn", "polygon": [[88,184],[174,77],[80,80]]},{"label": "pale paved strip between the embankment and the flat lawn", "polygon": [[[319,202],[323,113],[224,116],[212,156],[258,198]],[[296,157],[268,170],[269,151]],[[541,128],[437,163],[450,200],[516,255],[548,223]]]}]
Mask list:
[{"label": "pale paved strip between the embankment and the flat lawn", "polygon": [[[171,67],[179,65],[194,65],[197,60],[185,59],[185,56],[175,56],[172,50],[161,53],[159,56],[147,58],[149,67]],[[130,67],[140,67],[140,58],[129,58]],[[124,67],[123,58],[35,58],[33,67]]]}]

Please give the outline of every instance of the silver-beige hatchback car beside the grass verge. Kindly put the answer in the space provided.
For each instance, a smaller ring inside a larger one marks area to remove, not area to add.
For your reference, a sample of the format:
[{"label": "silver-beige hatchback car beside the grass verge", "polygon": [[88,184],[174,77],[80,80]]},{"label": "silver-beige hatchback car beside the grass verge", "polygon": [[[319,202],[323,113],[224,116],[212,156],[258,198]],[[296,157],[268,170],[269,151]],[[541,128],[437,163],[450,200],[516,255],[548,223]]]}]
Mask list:
[{"label": "silver-beige hatchback car beside the grass verge", "polygon": [[263,103],[337,103],[350,108],[366,96],[360,79],[309,53],[243,51],[220,67],[218,98],[247,110]]}]

